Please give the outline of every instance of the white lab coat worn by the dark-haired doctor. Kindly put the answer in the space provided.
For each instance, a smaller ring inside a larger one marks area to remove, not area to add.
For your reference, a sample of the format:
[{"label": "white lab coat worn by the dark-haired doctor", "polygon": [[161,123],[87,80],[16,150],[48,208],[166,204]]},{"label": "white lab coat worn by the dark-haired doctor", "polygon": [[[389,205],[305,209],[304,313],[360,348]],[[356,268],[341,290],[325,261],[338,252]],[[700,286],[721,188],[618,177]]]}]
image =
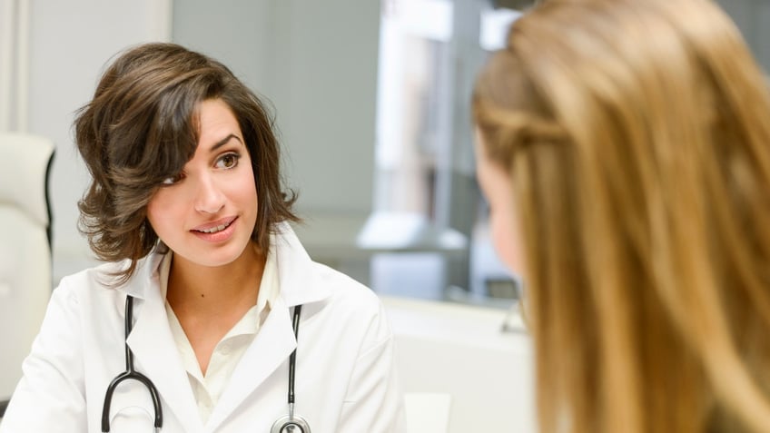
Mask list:
[{"label": "white lab coat worn by the dark-haired doctor", "polygon": [[[288,224],[272,237],[281,294],[232,373],[206,425],[192,397],[160,292],[153,252],[123,286],[104,287],[114,264],[66,277],[24,362],[0,433],[100,432],[104,393],[124,370],[126,294],[134,300],[128,338],[135,368],[153,380],[163,432],[269,432],[288,413],[288,365],[297,340],[291,307],[302,305],[295,412],[313,433],[403,431],[393,337],[378,298],[354,280],[311,261]],[[135,380],[114,394],[112,432],[152,431],[153,405]]]}]

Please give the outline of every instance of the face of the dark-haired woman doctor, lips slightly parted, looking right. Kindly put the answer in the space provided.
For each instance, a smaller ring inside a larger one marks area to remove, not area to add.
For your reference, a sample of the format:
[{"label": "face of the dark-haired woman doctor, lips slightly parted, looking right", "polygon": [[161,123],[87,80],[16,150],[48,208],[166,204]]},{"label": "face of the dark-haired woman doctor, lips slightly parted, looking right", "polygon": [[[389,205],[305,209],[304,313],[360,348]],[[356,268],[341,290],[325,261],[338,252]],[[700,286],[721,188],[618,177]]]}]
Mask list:
[{"label": "face of the dark-haired woman doctor, lips slightly parted, looking right", "polygon": [[[241,257],[257,221],[257,190],[241,128],[222,100],[200,103],[198,147],[147,205],[174,260],[222,266]],[[251,249],[250,249],[251,250]]]}]

